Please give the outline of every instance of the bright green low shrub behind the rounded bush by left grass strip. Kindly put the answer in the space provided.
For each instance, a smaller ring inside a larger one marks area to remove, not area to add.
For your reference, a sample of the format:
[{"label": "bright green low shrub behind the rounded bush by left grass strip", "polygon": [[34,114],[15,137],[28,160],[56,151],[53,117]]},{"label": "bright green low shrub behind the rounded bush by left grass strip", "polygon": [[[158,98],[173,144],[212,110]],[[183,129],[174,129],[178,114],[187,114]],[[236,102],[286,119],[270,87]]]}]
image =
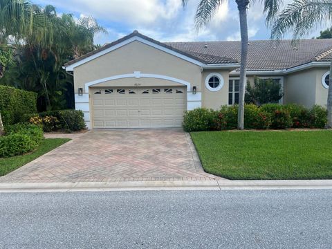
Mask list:
[{"label": "bright green low shrub behind the rounded bush by left grass strip", "polygon": [[40,142],[44,139],[44,133],[41,126],[35,124],[13,124],[6,127],[6,136],[14,134],[24,134],[28,136],[36,145],[39,145]]}]

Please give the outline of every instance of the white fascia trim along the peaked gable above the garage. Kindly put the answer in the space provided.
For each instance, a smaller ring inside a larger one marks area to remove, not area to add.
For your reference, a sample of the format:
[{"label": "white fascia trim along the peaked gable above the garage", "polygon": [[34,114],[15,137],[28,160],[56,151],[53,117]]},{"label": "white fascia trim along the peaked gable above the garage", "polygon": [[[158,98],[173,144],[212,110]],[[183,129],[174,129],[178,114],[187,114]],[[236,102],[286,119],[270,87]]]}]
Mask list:
[{"label": "white fascia trim along the peaked gable above the garage", "polygon": [[75,62],[75,63],[73,63],[73,64],[71,64],[71,65],[69,65],[69,66],[66,66],[66,71],[73,71],[74,68],[77,67],[77,66],[80,66],[80,65],[82,65],[82,64],[84,64],[84,63],[86,63],[86,62],[90,62],[91,60],[93,60],[93,59],[95,59],[95,58],[98,58],[98,57],[100,57],[100,56],[102,56],[102,55],[105,55],[105,54],[107,54],[107,53],[109,53],[109,52],[111,52],[111,51],[113,51],[113,50],[116,50],[116,49],[118,49],[118,48],[120,48],[120,47],[122,47],[122,46],[124,46],[124,45],[127,45],[127,44],[129,44],[129,43],[131,43],[131,42],[134,42],[134,41],[142,42],[143,44],[147,44],[147,45],[149,45],[149,46],[152,46],[152,47],[154,47],[154,48],[157,48],[158,50],[162,50],[162,51],[164,51],[165,53],[169,53],[169,54],[171,54],[171,55],[174,55],[174,56],[176,56],[176,57],[179,57],[179,58],[181,58],[181,59],[184,59],[184,60],[187,61],[187,62],[192,62],[193,64],[196,64],[196,65],[198,65],[198,66],[205,66],[204,63],[199,62],[199,61],[196,60],[196,59],[192,59],[191,57],[187,57],[186,55],[183,55],[183,54],[181,54],[181,53],[178,53],[178,52],[176,52],[176,51],[174,51],[174,50],[171,50],[171,49],[169,49],[169,48],[165,48],[165,47],[163,47],[163,46],[160,46],[160,45],[158,45],[158,44],[155,44],[154,42],[149,42],[149,41],[147,41],[146,39],[142,39],[141,37],[136,37],[136,36],[135,36],[135,37],[131,37],[131,38],[129,38],[129,39],[123,41],[123,42],[120,42],[119,44],[116,44],[116,45],[114,45],[114,46],[111,46],[111,47],[109,47],[109,48],[107,48],[107,49],[105,49],[105,50],[102,50],[102,51],[100,51],[100,52],[98,52],[98,53],[95,53],[94,55],[91,55],[91,56],[89,56],[89,57],[86,57],[85,59],[81,59],[80,61]]}]

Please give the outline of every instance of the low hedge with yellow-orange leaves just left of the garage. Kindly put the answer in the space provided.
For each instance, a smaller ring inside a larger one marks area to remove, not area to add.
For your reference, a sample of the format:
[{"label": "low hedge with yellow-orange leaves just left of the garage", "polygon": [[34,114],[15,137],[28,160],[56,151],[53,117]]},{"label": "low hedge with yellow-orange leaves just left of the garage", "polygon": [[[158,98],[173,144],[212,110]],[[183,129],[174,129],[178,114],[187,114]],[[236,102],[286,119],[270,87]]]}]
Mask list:
[{"label": "low hedge with yellow-orange leaves just left of the garage", "polygon": [[42,113],[30,114],[30,116],[26,116],[25,118],[30,123],[41,124],[46,132],[57,131],[58,129],[66,131],[86,129],[83,111],[44,111]]}]

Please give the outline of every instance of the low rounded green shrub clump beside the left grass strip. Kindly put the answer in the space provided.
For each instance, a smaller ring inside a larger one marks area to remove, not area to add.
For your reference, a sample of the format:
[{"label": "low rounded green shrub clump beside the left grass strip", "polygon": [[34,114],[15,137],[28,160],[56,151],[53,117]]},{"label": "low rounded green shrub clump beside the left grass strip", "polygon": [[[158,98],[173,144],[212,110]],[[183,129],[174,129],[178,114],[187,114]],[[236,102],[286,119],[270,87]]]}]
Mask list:
[{"label": "low rounded green shrub clump beside the left grass strip", "polygon": [[44,139],[42,127],[34,124],[14,124],[6,127],[0,137],[0,158],[33,151]]}]

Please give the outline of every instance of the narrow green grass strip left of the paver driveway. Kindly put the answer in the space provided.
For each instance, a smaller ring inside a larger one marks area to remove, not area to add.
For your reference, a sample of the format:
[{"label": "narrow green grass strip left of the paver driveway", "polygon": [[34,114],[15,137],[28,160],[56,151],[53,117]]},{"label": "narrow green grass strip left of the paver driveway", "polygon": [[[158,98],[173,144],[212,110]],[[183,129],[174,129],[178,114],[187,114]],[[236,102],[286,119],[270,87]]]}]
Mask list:
[{"label": "narrow green grass strip left of the paver driveway", "polygon": [[0,158],[0,176],[4,176],[19,167],[26,165],[27,163],[35,160],[39,156],[46,154],[48,151],[63,145],[68,142],[68,138],[48,138],[43,140],[42,144],[39,145],[38,149],[30,154],[23,156],[13,156],[11,158]]}]

